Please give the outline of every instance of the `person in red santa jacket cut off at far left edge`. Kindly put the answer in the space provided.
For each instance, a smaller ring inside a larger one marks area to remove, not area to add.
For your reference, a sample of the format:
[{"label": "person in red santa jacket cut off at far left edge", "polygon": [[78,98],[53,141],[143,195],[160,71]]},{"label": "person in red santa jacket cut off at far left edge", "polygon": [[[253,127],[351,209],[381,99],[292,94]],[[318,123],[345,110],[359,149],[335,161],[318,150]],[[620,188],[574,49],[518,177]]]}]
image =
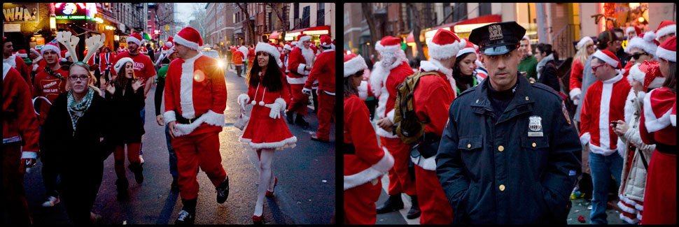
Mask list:
[{"label": "person in red santa jacket cut off at far left edge", "polygon": [[32,223],[24,173],[38,157],[38,118],[31,90],[12,66],[2,64],[2,223]]}]

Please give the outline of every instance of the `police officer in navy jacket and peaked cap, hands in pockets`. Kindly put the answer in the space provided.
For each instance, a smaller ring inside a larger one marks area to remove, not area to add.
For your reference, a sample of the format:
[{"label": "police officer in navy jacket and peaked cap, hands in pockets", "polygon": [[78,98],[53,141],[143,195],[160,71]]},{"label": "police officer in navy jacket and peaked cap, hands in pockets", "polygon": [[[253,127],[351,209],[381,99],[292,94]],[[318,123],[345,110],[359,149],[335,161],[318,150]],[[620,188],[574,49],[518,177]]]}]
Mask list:
[{"label": "police officer in navy jacket and peaked cap, hands in pockets", "polygon": [[436,156],[455,224],[566,224],[581,146],[561,97],[517,76],[525,32],[502,22],[470,34],[489,80],[450,105]]}]

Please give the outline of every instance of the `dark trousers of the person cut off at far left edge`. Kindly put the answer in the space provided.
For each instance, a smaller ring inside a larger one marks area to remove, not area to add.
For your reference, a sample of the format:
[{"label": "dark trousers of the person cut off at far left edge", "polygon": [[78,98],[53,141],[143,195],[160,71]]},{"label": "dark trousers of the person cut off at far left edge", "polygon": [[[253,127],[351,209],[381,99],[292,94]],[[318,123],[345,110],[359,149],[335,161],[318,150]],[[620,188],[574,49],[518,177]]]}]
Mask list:
[{"label": "dark trousers of the person cut off at far left edge", "polygon": [[20,142],[2,145],[2,216],[3,224],[29,225],[31,214],[24,190],[24,173],[19,171],[21,163]]}]

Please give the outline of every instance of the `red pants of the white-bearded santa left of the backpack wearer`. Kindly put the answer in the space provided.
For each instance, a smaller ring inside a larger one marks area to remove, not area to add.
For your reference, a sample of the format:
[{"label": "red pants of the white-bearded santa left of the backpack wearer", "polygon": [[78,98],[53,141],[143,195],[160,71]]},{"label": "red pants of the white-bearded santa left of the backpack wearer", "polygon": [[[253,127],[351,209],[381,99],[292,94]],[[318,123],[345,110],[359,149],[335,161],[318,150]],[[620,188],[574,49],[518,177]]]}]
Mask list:
[{"label": "red pants of the white-bearded santa left of the backpack wearer", "polygon": [[408,173],[408,159],[410,159],[410,146],[401,142],[399,138],[379,138],[379,144],[386,147],[393,156],[393,168],[389,169],[389,195],[406,193],[415,196],[415,182]]}]

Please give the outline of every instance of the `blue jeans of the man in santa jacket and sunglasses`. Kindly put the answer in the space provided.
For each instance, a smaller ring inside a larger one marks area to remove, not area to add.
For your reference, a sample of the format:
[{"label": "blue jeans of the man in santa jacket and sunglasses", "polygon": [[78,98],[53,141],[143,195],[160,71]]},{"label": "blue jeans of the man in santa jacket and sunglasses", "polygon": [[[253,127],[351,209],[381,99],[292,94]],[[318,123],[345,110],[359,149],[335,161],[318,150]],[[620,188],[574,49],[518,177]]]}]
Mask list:
[{"label": "blue jeans of the man in santa jacket and sunglasses", "polygon": [[608,224],[608,221],[606,221],[608,183],[610,182],[610,175],[613,175],[617,185],[620,185],[622,161],[622,157],[617,152],[609,156],[589,153],[589,170],[591,170],[591,183],[594,186],[589,214],[591,224]]}]

